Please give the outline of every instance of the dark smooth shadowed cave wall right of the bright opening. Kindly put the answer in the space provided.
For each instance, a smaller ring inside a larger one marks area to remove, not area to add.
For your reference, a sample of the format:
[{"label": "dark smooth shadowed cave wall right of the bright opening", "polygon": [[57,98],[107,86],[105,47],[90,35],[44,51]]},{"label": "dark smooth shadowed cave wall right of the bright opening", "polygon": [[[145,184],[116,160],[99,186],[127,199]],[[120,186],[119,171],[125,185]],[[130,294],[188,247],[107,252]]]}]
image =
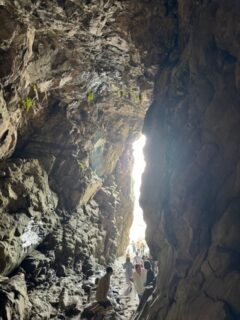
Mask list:
[{"label": "dark smooth shadowed cave wall right of the bright opening", "polygon": [[159,275],[135,319],[240,319],[240,4],[167,3],[141,191]]}]

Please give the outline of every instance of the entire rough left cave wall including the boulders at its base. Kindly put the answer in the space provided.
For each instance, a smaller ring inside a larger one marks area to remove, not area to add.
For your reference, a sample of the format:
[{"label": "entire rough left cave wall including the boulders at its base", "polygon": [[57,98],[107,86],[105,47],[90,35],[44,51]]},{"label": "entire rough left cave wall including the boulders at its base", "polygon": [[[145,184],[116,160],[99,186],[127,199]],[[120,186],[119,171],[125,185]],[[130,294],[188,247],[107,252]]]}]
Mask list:
[{"label": "entire rough left cave wall including the boulders at its base", "polygon": [[96,262],[128,244],[157,71],[141,15],[138,1],[0,0],[0,274],[24,272],[31,303],[5,316],[4,300],[6,319],[66,316],[64,287],[84,302]]}]

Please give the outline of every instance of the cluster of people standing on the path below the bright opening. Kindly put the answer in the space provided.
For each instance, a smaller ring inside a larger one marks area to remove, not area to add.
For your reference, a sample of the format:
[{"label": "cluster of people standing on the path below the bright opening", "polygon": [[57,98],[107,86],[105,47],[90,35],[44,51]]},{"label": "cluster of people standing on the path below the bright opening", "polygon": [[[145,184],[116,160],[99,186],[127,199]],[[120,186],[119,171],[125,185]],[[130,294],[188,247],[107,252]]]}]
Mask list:
[{"label": "cluster of people standing on the path below the bright opening", "polygon": [[127,255],[126,262],[123,264],[126,282],[130,290],[132,283],[134,284],[139,300],[141,300],[146,287],[155,285],[154,262],[143,258],[137,251],[133,262],[131,262],[130,256]]}]

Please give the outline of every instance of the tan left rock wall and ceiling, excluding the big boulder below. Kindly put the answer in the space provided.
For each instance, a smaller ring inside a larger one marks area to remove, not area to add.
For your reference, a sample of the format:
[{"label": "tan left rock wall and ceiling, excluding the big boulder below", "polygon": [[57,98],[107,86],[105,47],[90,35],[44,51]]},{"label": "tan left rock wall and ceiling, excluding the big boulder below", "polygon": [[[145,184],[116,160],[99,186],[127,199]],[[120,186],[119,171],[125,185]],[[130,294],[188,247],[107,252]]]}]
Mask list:
[{"label": "tan left rock wall and ceiling, excluding the big boulder below", "polygon": [[141,63],[131,41],[135,11],[121,1],[0,3],[1,158],[15,150],[14,158],[26,164],[38,159],[58,197],[57,233],[78,228],[74,217],[89,222],[100,210],[103,242],[92,243],[90,251],[102,246],[98,255],[106,261],[126,246],[129,148],[140,132],[155,72]]}]

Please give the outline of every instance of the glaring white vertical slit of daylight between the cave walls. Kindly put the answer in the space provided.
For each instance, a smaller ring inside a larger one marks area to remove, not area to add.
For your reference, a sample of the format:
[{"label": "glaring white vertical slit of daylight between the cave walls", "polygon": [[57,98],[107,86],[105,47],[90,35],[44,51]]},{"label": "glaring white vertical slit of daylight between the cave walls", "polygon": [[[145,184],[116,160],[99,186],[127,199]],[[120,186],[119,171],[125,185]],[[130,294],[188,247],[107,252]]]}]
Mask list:
[{"label": "glaring white vertical slit of daylight between the cave walls", "polygon": [[145,161],[143,156],[143,147],[146,138],[141,136],[133,143],[133,185],[134,185],[134,211],[133,211],[133,224],[130,230],[130,240],[138,241],[145,239],[146,224],[143,220],[143,212],[139,205],[140,187],[142,182],[142,173],[145,168]]}]

